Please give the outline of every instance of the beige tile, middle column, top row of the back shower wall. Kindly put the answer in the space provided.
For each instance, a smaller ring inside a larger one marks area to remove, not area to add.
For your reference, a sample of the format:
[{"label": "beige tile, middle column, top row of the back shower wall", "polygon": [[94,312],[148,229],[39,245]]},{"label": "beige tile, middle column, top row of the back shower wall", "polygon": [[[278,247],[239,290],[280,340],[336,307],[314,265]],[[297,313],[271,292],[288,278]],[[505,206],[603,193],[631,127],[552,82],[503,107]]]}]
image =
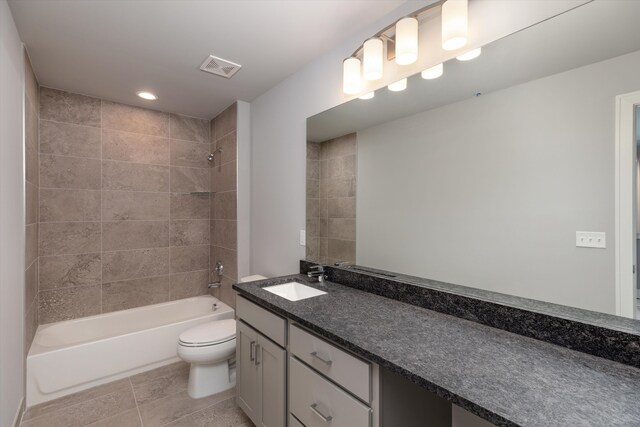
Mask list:
[{"label": "beige tile, middle column, top row of the back shower wall", "polygon": [[169,137],[169,114],[131,105],[102,101],[102,127]]}]

